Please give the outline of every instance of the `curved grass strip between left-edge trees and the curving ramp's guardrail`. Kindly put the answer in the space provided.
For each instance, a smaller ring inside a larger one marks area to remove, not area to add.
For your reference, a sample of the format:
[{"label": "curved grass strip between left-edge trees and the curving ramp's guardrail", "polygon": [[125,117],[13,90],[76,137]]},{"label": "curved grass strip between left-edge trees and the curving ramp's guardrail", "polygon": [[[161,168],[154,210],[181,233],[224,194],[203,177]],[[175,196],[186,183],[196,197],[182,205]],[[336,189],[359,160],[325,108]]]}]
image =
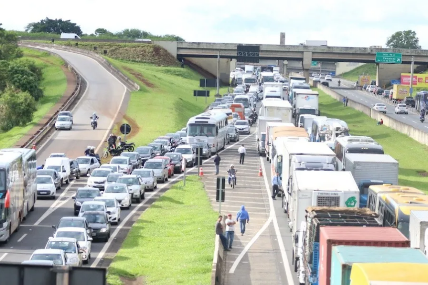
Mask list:
[{"label": "curved grass strip between left-edge trees and the curving ramp's guardrail", "polygon": [[0,145],[3,148],[11,147],[19,141],[55,105],[64,95],[67,88],[67,79],[61,68],[64,64],[62,59],[47,52],[39,52],[28,48],[22,48],[22,50],[24,59],[33,60],[43,70],[42,87],[44,96],[37,102],[37,111],[34,112],[31,123],[22,127],[14,127],[7,132],[0,132]]}]

